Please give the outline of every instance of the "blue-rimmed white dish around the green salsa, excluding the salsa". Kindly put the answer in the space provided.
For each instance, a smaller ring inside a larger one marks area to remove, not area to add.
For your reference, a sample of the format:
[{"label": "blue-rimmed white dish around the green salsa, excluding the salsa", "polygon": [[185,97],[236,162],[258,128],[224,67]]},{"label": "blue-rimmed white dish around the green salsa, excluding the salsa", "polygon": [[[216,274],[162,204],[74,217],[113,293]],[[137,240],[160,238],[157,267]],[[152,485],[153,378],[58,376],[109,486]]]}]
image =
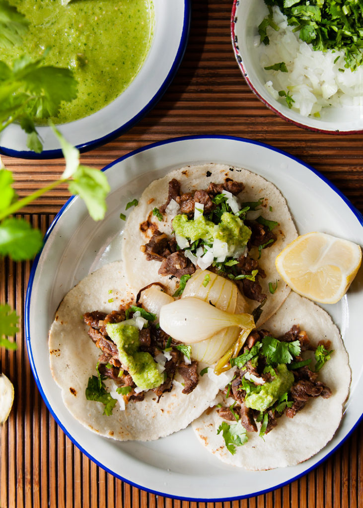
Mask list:
[{"label": "blue-rimmed white dish around the green salsa, excluding the salsa", "polygon": [[[101,110],[58,125],[64,137],[81,152],[107,143],[129,130],[152,109],[170,85],[182,61],[189,36],[190,0],[153,0],[154,35],[150,50],[136,77],[114,101]],[[27,135],[16,123],[0,135],[0,153],[24,158],[62,157],[49,126],[39,126],[43,151],[26,146]]]}]

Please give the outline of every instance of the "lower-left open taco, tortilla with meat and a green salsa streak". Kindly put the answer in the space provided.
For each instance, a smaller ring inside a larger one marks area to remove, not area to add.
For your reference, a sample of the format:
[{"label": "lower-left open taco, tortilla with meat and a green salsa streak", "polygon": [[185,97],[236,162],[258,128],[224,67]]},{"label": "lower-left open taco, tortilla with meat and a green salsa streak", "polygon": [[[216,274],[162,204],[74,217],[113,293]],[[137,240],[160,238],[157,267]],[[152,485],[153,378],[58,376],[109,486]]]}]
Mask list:
[{"label": "lower-left open taco, tortilla with meat and a green salsa streak", "polygon": [[[154,306],[173,301],[156,293]],[[190,348],[154,326],[155,314],[136,296],[123,263],[106,265],[65,296],[49,332],[50,368],[66,407],[90,430],[118,440],[153,440],[187,427],[223,385],[223,376],[199,375]]]}]

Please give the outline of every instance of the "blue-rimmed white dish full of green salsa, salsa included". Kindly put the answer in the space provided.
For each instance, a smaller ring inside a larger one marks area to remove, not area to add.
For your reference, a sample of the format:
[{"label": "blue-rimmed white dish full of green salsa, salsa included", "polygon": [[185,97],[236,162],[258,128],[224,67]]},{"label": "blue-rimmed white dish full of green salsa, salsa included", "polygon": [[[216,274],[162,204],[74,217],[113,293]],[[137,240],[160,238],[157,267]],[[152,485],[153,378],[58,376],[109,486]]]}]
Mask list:
[{"label": "blue-rimmed white dish full of green salsa, salsa included", "polygon": [[62,156],[49,122],[80,151],[130,129],[171,82],[190,22],[190,0],[7,0],[1,9],[0,152],[26,158]]}]

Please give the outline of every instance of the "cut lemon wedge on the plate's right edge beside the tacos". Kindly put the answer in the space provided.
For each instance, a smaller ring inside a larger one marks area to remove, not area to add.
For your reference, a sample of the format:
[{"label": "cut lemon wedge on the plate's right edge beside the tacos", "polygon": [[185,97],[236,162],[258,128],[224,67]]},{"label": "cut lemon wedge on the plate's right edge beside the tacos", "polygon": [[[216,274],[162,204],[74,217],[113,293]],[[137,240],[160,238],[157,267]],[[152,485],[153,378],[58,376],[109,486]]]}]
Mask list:
[{"label": "cut lemon wedge on the plate's right edge beside the tacos", "polygon": [[276,268],[296,293],[320,303],[337,303],[361,263],[359,245],[325,233],[308,233],[289,243]]}]

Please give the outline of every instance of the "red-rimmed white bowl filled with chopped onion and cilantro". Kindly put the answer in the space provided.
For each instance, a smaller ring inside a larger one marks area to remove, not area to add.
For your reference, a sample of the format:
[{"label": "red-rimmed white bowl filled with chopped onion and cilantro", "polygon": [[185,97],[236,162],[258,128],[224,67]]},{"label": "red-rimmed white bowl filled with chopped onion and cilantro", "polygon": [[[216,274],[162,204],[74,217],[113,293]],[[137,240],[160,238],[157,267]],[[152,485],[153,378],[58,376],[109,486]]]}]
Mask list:
[{"label": "red-rimmed white bowl filled with chopped onion and cilantro", "polygon": [[234,0],[231,35],[271,110],[311,130],[363,130],[362,0]]}]

